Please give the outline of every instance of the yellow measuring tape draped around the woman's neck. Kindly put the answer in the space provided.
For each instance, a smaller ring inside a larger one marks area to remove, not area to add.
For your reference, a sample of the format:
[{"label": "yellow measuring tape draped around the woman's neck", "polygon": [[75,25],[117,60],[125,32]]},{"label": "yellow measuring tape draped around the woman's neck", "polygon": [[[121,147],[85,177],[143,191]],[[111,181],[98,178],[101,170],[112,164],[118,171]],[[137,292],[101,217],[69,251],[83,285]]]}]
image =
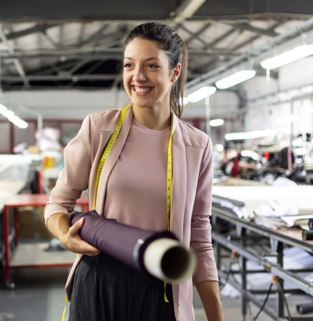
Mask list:
[{"label": "yellow measuring tape draped around the woman's neck", "polygon": [[[106,146],[106,150],[102,155],[102,158],[100,160],[99,163],[99,167],[98,167],[98,173],[97,173],[97,179],[96,179],[96,188],[95,188],[95,199],[94,199],[94,204],[93,204],[93,209],[96,208],[96,201],[97,201],[97,191],[98,191],[98,185],[99,185],[99,180],[100,180],[100,175],[102,172],[102,169],[104,168],[104,164],[106,162],[107,156],[115,142],[115,139],[122,127],[122,124],[124,122],[128,107],[130,106],[127,105],[126,107],[123,108],[122,113],[120,115],[120,118],[117,122],[117,125],[115,127],[115,130],[113,132],[113,135],[111,136],[111,139],[109,141],[109,143]],[[173,116],[174,117],[174,116]],[[167,217],[167,229],[168,231],[170,230],[170,204],[171,204],[171,192],[172,192],[172,135],[175,132],[175,128],[176,128],[176,118],[173,118],[173,129],[172,132],[170,134],[170,141],[169,141],[169,147],[168,147],[168,155],[167,155],[167,197],[166,197],[166,203],[167,203],[167,208],[166,208],[166,217]],[[77,254],[78,256],[78,254]],[[76,256],[76,257],[77,257]],[[169,302],[169,300],[166,297],[166,293],[165,293],[165,288],[166,288],[166,282],[164,282],[164,300],[165,302]],[[67,301],[68,298],[65,298],[65,308],[63,311],[63,315],[62,315],[62,319],[61,321],[64,321],[64,316],[65,316],[65,310],[66,310],[66,305],[67,305]]]}]

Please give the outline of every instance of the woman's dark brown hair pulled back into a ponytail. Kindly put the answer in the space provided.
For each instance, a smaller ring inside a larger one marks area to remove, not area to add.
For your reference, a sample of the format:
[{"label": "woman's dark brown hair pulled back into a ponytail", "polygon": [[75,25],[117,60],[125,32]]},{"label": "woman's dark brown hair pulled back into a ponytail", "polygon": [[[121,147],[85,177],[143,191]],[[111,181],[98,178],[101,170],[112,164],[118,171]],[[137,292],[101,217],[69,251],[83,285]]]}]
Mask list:
[{"label": "woman's dark brown hair pulled back into a ponytail", "polygon": [[166,52],[170,61],[170,69],[181,64],[180,76],[173,83],[170,92],[170,106],[178,118],[184,109],[184,87],[187,81],[187,48],[184,41],[171,29],[168,25],[160,22],[147,22],[136,26],[128,35],[124,43],[124,51],[126,46],[134,39],[141,38],[155,42],[158,47]]}]

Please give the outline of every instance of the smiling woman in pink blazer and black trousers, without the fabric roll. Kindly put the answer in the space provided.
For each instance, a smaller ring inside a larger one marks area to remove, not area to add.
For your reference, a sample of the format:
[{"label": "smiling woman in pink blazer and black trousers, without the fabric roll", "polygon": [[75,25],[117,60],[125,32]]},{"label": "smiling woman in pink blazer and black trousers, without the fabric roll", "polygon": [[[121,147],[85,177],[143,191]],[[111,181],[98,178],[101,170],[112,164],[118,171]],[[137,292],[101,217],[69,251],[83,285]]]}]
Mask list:
[{"label": "smiling woman in pink blazer and black trousers, without the fabric roll", "polygon": [[[174,30],[157,22],[135,27],[125,41],[123,68],[132,103],[123,110],[88,115],[65,148],[65,168],[44,215],[52,234],[80,253],[66,285],[69,320],[192,321],[192,282],[208,320],[224,320],[209,223],[212,147],[204,132],[180,120],[186,76],[186,46]],[[112,135],[122,115],[123,125]],[[113,136],[96,188],[99,162]],[[194,249],[196,272],[180,285],[166,286],[169,302],[164,283],[143,277],[81,240],[83,221],[70,227],[69,212],[87,188],[90,208],[97,198],[97,213],[147,230],[170,228]]]}]

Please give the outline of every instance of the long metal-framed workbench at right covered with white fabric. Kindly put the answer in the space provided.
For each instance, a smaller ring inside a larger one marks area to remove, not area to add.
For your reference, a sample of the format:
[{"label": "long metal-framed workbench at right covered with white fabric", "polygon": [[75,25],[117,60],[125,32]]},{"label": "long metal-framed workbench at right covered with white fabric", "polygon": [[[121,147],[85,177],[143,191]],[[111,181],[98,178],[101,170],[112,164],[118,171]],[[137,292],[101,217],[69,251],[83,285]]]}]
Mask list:
[{"label": "long metal-framed workbench at right covered with white fabric", "polygon": [[[251,314],[253,302],[274,320],[313,320],[312,313],[304,315],[313,312],[313,240],[302,237],[303,229],[308,235],[313,232],[308,227],[313,218],[312,195],[313,186],[213,187],[211,235],[216,265],[220,279],[241,292],[244,319]],[[225,255],[227,251],[230,255]],[[304,253],[304,265],[288,257],[299,252]],[[288,259],[295,264],[286,265]],[[270,277],[270,289],[252,289],[249,278],[253,274],[264,278],[264,273]],[[276,294],[275,308],[263,305],[268,295],[260,299],[260,294],[269,293]],[[286,293],[307,294],[311,303],[299,302],[297,315],[291,316]]]}]

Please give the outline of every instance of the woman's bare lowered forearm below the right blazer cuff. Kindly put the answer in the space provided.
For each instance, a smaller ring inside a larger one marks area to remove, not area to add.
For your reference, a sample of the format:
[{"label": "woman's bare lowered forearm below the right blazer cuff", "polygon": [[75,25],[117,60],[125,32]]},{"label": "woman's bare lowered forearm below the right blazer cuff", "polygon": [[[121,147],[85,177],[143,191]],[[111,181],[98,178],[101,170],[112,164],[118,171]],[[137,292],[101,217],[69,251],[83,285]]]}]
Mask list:
[{"label": "woman's bare lowered forearm below the right blazer cuff", "polygon": [[224,321],[221,298],[217,281],[196,284],[208,321]]}]

